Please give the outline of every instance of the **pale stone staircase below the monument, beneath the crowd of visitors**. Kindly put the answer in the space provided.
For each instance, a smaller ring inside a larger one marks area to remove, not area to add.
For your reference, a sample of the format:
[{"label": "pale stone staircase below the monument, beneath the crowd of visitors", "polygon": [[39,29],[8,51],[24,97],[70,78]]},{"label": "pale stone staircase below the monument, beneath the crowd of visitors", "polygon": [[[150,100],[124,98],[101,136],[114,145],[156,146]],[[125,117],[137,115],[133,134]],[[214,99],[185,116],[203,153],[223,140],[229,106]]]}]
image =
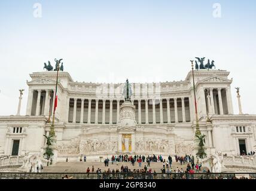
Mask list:
[{"label": "pale stone staircase below the monument, beneath the crowd of visitors", "polygon": [[[90,168],[90,172],[92,172],[92,166],[94,166],[95,172],[97,168],[100,168],[102,172],[104,170],[108,170],[108,168],[111,171],[112,169],[118,169],[120,171],[122,165],[127,166],[130,170],[133,171],[133,169],[142,169],[145,165],[147,167],[147,162],[142,162],[141,167],[139,167],[138,162],[135,162],[135,166],[132,166],[130,162],[114,162],[114,164],[112,164],[110,161],[108,167],[105,167],[105,164],[103,162],[57,162],[56,164],[49,167],[44,167],[42,172],[86,172],[88,167]],[[177,167],[179,167],[179,169],[183,168],[183,170],[185,170],[187,168],[187,162],[182,165],[180,164],[180,162],[172,162],[172,172],[176,170]],[[156,172],[161,172],[161,168],[163,168],[163,163],[151,162],[150,167],[147,168],[151,168],[153,171],[156,170]]]}]

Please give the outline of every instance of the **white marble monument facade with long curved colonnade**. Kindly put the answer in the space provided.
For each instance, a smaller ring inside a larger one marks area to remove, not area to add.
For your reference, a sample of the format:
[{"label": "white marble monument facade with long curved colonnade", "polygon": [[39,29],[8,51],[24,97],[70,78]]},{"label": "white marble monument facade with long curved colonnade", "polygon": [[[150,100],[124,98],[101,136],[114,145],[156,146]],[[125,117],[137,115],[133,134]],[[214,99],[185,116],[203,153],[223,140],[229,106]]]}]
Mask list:
[{"label": "white marble monument facade with long curved colonnade", "polygon": [[[212,67],[194,71],[199,127],[206,135],[208,156],[218,151],[247,155],[256,149],[256,115],[234,114],[229,73]],[[44,154],[43,135],[50,131],[56,71],[30,76],[26,115],[0,116],[0,156]],[[99,161],[100,157],[123,154],[165,158],[194,155],[193,100],[191,71],[182,81],[152,84],[75,82],[68,72],[60,71],[54,159],[78,161],[86,155],[87,161]]]}]

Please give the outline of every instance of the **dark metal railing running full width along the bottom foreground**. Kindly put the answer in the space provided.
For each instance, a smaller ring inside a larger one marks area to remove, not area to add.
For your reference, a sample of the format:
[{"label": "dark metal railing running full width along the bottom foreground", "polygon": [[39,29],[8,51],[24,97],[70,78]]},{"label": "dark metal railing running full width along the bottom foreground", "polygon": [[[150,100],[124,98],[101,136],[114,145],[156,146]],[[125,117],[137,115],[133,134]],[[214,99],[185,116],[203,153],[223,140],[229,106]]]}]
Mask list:
[{"label": "dark metal railing running full width along the bottom foreground", "polygon": [[0,173],[0,179],[236,179],[241,177],[256,179],[256,173]]}]

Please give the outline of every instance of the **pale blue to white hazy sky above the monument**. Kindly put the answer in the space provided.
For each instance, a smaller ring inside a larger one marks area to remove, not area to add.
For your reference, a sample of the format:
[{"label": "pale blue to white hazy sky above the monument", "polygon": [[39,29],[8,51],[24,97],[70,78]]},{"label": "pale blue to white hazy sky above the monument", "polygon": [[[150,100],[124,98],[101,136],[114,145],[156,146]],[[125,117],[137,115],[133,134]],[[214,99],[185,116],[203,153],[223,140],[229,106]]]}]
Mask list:
[{"label": "pale blue to white hazy sky above the monument", "polygon": [[256,1],[0,1],[0,116],[16,115],[21,88],[25,115],[29,73],[54,58],[74,81],[144,83],[184,80],[206,57],[230,72],[234,113],[240,87],[256,114],[255,19]]}]

